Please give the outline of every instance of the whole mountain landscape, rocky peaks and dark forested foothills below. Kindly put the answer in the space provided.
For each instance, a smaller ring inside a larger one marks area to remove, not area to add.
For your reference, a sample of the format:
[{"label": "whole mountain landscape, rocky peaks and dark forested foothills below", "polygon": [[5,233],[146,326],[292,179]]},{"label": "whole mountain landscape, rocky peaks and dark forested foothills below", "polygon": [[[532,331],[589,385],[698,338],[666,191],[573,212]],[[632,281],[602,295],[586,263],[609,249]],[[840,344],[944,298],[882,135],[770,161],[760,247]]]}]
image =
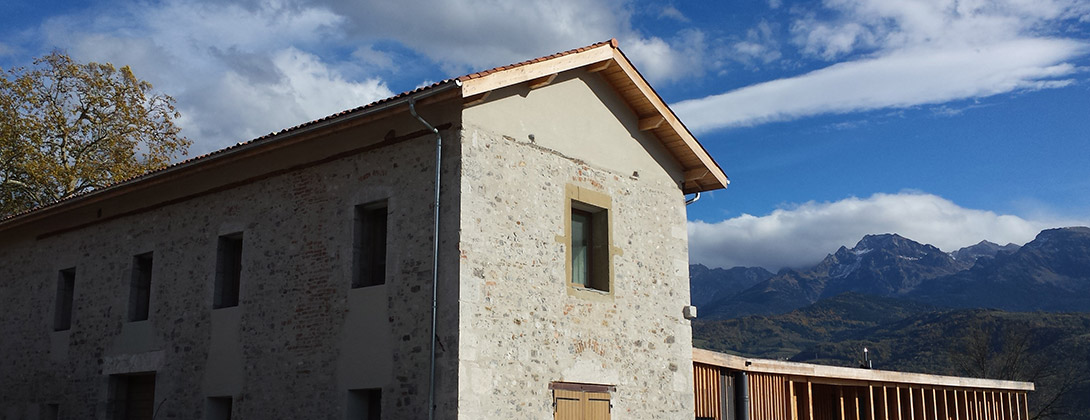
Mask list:
[{"label": "whole mountain landscape, rocky peaks and dark forested foothills below", "polygon": [[946,253],[863,237],[810,268],[690,267],[693,345],[799,362],[1030,381],[1033,419],[1090,420],[1090,228]]}]

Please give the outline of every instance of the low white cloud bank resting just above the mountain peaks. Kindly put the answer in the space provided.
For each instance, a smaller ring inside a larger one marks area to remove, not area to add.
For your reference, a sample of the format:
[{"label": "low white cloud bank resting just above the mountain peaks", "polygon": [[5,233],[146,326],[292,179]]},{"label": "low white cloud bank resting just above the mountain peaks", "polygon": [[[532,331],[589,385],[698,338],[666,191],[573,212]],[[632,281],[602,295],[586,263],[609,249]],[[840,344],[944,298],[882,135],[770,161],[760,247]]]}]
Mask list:
[{"label": "low white cloud bank resting just above the mountain peaks", "polygon": [[689,223],[690,261],[710,266],[812,265],[864,235],[898,233],[952,252],[989,240],[1022,244],[1042,229],[1086,220],[1025,219],[961,207],[933,194],[901,192],[808,202],[765,216],[741,215],[719,223]]}]

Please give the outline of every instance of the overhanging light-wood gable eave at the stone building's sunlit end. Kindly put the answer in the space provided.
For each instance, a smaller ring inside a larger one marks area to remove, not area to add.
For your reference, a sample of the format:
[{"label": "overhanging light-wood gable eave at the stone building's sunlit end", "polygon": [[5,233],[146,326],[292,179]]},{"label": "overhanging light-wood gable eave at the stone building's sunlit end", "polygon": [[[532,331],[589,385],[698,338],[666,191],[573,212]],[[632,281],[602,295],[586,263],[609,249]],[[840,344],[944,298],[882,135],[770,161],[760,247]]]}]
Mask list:
[{"label": "overhanging light-wood gable eave at the stone building's sunlit end", "polygon": [[531,88],[542,87],[550,83],[556,74],[576,69],[597,72],[613,85],[639,117],[639,129],[653,133],[681,165],[685,170],[682,190],[686,193],[727,188],[730,181],[726,173],[617,48],[616,39],[473,73],[459,77],[459,81],[462,83],[464,105],[469,107],[486,100],[493,91],[520,83],[526,83]]}]

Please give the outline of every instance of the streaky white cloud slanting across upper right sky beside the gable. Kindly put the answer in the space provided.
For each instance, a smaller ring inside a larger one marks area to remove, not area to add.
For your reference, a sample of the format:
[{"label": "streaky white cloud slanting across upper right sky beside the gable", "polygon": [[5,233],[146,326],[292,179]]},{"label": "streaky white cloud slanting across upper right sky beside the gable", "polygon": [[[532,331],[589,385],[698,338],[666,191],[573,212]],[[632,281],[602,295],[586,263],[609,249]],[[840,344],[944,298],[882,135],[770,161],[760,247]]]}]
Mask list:
[{"label": "streaky white cloud slanting across upper right sky beside the gable", "polygon": [[[803,56],[845,60],[798,76],[685,100],[675,110],[698,132],[822,113],[904,108],[1063,87],[1090,52],[1042,27],[1085,19],[1085,2],[826,1],[836,17],[803,14]],[[1058,25],[1053,25],[1058,26]]]}]

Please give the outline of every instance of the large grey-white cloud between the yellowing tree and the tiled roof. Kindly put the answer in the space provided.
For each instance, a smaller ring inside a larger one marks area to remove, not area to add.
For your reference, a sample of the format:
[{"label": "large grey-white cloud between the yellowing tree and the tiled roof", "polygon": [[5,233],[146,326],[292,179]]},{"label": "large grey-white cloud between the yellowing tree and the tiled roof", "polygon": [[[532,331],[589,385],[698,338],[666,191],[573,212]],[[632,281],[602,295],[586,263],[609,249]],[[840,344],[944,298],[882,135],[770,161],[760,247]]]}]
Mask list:
[{"label": "large grey-white cloud between the yellowing tree and the tiled roof", "polygon": [[181,0],[116,7],[50,19],[43,36],[80,60],[130,64],[174,96],[191,155],[392,95],[382,80],[350,77],[335,59],[302,49],[341,38],[346,21],[328,9]]}]

